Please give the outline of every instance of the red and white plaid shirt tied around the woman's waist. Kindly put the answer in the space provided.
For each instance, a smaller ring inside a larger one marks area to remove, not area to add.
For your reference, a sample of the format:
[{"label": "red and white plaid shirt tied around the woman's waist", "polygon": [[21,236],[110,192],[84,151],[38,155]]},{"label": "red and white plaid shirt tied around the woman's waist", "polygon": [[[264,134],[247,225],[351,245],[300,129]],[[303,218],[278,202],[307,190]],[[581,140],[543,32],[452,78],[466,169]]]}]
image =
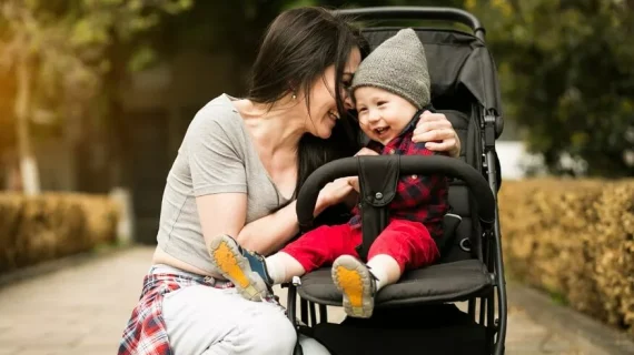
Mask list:
[{"label": "red and white plaid shirt tied around the woman's waist", "polygon": [[152,266],[150,273],[143,277],[143,291],[123,331],[118,354],[172,355],[162,318],[162,297],[170,292],[194,285],[234,287],[228,281],[180,272],[169,266]]}]

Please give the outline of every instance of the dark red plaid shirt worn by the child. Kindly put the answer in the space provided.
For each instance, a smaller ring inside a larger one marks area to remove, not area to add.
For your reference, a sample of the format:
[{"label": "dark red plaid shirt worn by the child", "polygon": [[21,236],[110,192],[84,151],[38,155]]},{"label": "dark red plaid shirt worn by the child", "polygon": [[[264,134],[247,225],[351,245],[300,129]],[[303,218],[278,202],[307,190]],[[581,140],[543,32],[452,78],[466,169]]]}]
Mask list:
[{"label": "dark red plaid shirt worn by the child", "polygon": [[[436,152],[425,148],[425,143],[414,143],[412,135],[419,114],[387,145],[370,141],[368,149],[380,155],[434,155]],[[444,175],[407,175],[400,176],[396,186],[396,196],[388,206],[390,219],[402,219],[423,223],[433,239],[443,236],[443,217],[449,211],[448,181]],[[359,227],[361,217],[358,205],[353,210],[350,225]]]}]

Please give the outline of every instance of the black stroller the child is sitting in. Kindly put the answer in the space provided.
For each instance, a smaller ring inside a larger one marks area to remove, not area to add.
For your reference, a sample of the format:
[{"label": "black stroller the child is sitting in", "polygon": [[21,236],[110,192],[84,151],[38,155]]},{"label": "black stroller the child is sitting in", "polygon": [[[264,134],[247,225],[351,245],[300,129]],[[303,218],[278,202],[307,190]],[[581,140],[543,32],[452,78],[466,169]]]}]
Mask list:
[{"label": "black stroller the child is sitting in", "polygon": [[[341,306],[329,267],[286,285],[288,315],[299,332],[333,354],[504,354],[506,291],[496,195],[501,184],[495,140],[503,130],[497,74],[484,43],[484,28],[470,13],[450,8],[385,7],[339,10],[358,20],[439,20],[473,30],[416,28],[426,48],[433,104],[452,121],[462,142],[460,160],[446,156],[360,156],[315,171],[298,195],[303,231],[313,227],[319,190],[337,178],[359,175],[363,204],[361,256],[387,221],[386,196],[399,174],[443,173],[452,180],[452,213],[445,216],[440,261],[406,273],[377,294],[372,318],[327,323],[326,305]],[[399,27],[369,27],[374,49]],[[468,312],[454,302],[468,301]],[[478,302],[479,301],[479,302]],[[476,306],[478,313],[476,316]],[[316,308],[319,310],[319,322]],[[497,312],[496,312],[497,311]],[[297,346],[296,354],[300,354]]]}]

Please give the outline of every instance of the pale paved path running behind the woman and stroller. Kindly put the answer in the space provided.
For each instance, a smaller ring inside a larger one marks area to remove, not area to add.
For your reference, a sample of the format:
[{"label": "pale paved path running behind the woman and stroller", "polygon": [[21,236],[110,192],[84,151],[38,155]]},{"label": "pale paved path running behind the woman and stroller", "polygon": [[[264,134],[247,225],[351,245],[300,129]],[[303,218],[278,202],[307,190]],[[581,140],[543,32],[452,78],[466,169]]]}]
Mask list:
[{"label": "pale paved path running behind the woman and stroller", "polygon": [[[0,288],[0,355],[116,354],[151,253],[133,247]],[[507,354],[588,354],[513,305],[508,322]]]}]

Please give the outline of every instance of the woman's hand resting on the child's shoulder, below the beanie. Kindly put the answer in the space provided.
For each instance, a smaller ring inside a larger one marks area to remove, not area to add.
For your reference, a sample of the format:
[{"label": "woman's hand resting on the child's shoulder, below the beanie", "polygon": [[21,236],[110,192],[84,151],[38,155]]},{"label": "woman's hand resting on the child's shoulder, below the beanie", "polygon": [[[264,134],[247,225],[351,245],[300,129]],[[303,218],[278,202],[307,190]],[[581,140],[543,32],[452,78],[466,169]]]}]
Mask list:
[{"label": "woman's hand resting on the child's shoulder, below the beanie", "polygon": [[450,156],[460,154],[460,140],[454,131],[452,122],[443,113],[423,112],[414,130],[412,141],[426,142],[425,148],[430,151],[447,152]]}]

